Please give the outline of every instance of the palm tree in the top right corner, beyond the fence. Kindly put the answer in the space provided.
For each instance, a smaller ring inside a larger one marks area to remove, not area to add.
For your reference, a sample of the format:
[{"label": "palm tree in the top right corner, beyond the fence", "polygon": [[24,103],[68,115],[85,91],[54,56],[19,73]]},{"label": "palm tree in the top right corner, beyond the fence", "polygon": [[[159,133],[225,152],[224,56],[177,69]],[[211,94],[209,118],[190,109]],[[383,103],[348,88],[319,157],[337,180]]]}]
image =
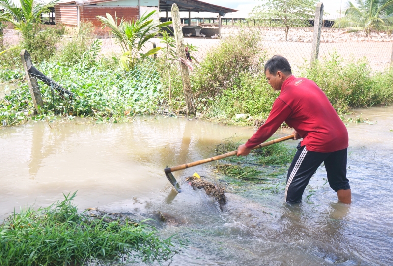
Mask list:
[{"label": "palm tree in the top right corner, beyond the fence", "polygon": [[345,17],[335,21],[334,27],[348,28],[350,31],[372,31],[393,29],[393,0],[356,0],[347,3]]}]

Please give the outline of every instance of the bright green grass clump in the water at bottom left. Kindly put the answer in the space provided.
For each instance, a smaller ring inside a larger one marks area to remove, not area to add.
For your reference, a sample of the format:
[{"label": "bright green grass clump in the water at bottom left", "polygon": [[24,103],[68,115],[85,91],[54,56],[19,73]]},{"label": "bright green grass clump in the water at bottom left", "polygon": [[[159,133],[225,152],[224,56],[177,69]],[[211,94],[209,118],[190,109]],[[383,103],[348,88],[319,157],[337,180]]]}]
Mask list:
[{"label": "bright green grass clump in the water at bottom left", "polygon": [[173,256],[170,238],[159,239],[154,228],[78,213],[74,197],[68,194],[47,208],[30,207],[7,218],[0,225],[0,265],[84,265],[91,259],[125,258],[153,262]]}]

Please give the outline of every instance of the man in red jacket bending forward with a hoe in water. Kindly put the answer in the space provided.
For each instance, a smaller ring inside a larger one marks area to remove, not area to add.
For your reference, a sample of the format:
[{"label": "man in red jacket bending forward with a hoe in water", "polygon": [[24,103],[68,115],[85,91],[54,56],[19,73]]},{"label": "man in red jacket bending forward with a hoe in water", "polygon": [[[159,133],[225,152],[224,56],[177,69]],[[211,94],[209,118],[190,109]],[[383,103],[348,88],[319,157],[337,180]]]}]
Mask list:
[{"label": "man in red jacket bending forward with a hoe in water", "polygon": [[285,121],[294,129],[295,139],[303,138],[288,170],[285,201],[302,201],[310,178],[324,162],[329,185],[337,192],[338,200],[351,203],[346,178],[348,132],[326,95],[312,80],[294,77],[288,60],[279,55],[267,61],[265,75],[274,90],[281,90],[280,95],[265,124],[239,146],[237,156],[248,155]]}]

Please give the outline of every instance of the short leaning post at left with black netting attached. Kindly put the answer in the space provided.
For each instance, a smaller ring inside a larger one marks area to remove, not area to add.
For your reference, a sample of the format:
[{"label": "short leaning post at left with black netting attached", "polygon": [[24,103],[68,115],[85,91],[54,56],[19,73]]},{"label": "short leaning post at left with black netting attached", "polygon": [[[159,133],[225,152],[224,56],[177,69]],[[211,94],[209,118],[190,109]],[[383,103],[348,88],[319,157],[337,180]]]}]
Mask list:
[{"label": "short leaning post at left with black netting attached", "polygon": [[23,69],[25,70],[26,80],[28,80],[28,87],[30,89],[31,98],[33,99],[33,105],[35,110],[38,112],[38,106],[43,107],[42,96],[40,92],[40,87],[38,86],[37,79],[31,77],[28,73],[28,69],[33,65],[31,62],[30,54],[27,50],[23,49],[20,53],[22,59]]}]

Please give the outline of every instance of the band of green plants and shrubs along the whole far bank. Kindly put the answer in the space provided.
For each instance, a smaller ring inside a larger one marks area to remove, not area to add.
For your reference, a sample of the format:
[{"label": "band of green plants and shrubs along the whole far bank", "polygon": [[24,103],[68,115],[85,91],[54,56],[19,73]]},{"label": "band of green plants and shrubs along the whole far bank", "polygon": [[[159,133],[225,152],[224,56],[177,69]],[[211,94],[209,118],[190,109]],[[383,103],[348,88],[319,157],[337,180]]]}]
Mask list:
[{"label": "band of green plants and shrubs along the whole far bank", "polygon": [[[53,119],[56,115],[119,122],[128,121],[134,114],[184,110],[177,63],[168,70],[159,56],[157,60],[140,60],[132,71],[124,71],[118,67],[117,57],[98,56],[100,42],[92,40],[88,25],[81,30],[64,42],[54,56],[36,64],[44,74],[74,92],[75,99],[64,101],[39,81],[44,107],[36,116],[17,50],[0,57],[1,85],[17,87],[0,99],[2,126]],[[83,37],[89,34],[90,37]],[[42,34],[43,38],[47,35]],[[221,40],[199,65],[195,64],[190,79],[198,117],[244,126],[267,118],[279,93],[266,82],[263,63],[268,58],[258,40],[257,30],[241,30],[238,35]],[[350,108],[393,102],[393,69],[373,73],[365,59],[348,62],[334,53],[311,69],[305,68],[301,76],[314,80],[342,116]],[[247,114],[248,119],[235,119],[239,113]]]}]

